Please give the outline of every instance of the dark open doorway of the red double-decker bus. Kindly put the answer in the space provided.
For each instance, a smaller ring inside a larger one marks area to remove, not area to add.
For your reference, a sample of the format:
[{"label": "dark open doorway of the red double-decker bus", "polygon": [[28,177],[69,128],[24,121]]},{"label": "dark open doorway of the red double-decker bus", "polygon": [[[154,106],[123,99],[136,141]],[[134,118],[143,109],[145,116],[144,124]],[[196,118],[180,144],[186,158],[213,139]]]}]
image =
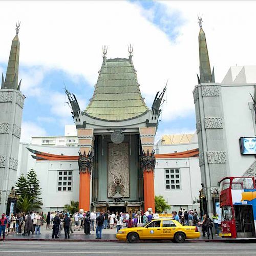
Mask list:
[{"label": "dark open doorway of the red double-decker bus", "polygon": [[234,205],[238,238],[255,237],[252,205]]}]

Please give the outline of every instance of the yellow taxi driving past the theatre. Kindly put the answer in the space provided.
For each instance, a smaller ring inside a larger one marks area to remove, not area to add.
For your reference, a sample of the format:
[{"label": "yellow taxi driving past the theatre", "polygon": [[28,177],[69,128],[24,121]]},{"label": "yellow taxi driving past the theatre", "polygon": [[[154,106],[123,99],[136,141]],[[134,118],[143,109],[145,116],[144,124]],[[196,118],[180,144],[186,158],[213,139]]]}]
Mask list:
[{"label": "yellow taxi driving past the theatre", "polygon": [[137,243],[140,239],[170,239],[176,243],[183,243],[185,239],[199,238],[200,232],[194,226],[182,226],[173,219],[153,219],[143,227],[120,229],[116,238],[130,243]]}]

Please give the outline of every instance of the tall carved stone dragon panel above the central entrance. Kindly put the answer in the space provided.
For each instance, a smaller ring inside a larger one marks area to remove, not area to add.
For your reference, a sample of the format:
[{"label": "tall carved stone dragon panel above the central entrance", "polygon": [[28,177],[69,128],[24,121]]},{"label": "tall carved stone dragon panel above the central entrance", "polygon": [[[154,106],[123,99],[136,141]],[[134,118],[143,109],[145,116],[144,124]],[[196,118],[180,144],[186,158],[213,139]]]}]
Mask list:
[{"label": "tall carved stone dragon panel above the central entrance", "polygon": [[130,197],[129,143],[109,143],[108,197]]}]

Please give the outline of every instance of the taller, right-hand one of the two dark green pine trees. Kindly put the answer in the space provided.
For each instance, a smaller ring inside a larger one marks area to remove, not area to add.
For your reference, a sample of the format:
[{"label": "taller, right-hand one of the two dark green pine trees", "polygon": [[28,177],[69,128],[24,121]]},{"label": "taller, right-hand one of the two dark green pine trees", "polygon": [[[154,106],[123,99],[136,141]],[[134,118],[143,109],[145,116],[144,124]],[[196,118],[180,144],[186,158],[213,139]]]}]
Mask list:
[{"label": "taller, right-hand one of the two dark green pine trees", "polygon": [[31,169],[27,174],[27,184],[29,198],[33,197],[35,199],[34,201],[40,203],[41,198],[39,196],[41,195],[41,188],[39,185],[39,180],[37,180],[36,173],[33,169]]}]

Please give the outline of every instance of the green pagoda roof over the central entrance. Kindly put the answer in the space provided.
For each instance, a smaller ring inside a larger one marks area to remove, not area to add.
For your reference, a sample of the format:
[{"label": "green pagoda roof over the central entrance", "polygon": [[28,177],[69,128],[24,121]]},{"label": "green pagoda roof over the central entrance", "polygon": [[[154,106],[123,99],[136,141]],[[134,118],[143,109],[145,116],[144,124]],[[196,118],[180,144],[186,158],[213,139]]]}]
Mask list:
[{"label": "green pagoda roof over the central entrance", "polygon": [[103,58],[94,94],[85,113],[97,119],[119,121],[147,111],[132,58]]}]

